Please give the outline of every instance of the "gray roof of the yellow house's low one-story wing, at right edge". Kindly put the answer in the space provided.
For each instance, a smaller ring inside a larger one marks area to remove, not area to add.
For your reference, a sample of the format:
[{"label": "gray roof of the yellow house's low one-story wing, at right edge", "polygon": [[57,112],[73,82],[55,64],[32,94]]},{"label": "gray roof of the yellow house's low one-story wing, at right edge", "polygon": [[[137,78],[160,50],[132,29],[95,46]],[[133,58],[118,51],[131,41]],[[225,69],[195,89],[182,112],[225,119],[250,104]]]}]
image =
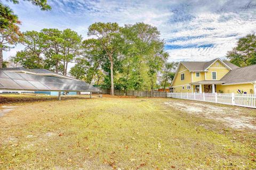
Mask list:
[{"label": "gray roof of the yellow house's low one-story wing, at right edge", "polygon": [[229,71],[220,81],[224,84],[255,82],[256,64]]}]

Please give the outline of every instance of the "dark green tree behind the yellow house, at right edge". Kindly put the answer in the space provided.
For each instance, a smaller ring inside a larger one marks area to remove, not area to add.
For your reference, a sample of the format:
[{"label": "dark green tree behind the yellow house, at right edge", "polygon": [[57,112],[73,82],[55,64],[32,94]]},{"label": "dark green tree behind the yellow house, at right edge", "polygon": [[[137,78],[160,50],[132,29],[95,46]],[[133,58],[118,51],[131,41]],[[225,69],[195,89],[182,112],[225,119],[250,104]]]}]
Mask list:
[{"label": "dark green tree behind the yellow house, at right edge", "polygon": [[238,66],[247,66],[256,63],[256,36],[249,34],[240,38],[236,47],[227,53],[231,63]]}]

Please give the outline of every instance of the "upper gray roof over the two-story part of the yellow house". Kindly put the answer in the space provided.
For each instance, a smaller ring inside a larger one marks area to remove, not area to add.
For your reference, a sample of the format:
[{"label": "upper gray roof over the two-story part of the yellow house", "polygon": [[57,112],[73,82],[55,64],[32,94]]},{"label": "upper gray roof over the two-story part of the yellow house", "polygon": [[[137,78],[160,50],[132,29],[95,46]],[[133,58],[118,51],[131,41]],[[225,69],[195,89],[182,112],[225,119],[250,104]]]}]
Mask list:
[{"label": "upper gray roof over the two-story part of the yellow house", "polygon": [[[180,62],[181,64],[185,65],[189,71],[204,71],[212,65],[215,61],[220,60],[219,58],[215,58],[214,60],[211,60],[209,62]],[[224,62],[227,64],[231,69],[237,69],[239,68],[238,66],[229,63],[229,62]]]}]

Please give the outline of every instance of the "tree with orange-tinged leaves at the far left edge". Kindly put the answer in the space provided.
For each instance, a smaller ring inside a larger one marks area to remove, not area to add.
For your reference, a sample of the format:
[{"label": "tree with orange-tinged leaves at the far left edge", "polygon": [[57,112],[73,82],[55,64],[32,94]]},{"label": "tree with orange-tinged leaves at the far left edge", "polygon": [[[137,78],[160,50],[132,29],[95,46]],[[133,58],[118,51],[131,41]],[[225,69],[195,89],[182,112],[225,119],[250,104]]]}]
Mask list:
[{"label": "tree with orange-tinged leaves at the far left edge", "polygon": [[[0,4],[0,8],[2,9],[3,5]],[[19,40],[19,36],[21,36],[21,32],[19,30],[18,24],[20,21],[18,20],[17,15],[10,10],[9,7],[4,7],[4,14],[7,16],[7,20],[0,18],[1,28],[0,28],[0,68],[3,66],[3,50],[10,50],[12,47],[10,45],[17,44]],[[2,25],[3,24],[3,25]]]}]

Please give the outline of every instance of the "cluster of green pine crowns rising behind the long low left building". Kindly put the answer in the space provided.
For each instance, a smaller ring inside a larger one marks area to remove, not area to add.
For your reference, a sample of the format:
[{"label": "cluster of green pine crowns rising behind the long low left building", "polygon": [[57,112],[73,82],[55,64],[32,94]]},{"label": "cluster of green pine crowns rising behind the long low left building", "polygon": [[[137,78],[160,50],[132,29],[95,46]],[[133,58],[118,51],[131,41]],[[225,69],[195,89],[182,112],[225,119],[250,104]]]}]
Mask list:
[{"label": "cluster of green pine crowns rising behind the long low left building", "polygon": [[12,57],[14,63],[26,68],[45,68],[67,75],[68,63],[79,55],[82,36],[70,29],[26,31],[20,37],[25,49]]}]

